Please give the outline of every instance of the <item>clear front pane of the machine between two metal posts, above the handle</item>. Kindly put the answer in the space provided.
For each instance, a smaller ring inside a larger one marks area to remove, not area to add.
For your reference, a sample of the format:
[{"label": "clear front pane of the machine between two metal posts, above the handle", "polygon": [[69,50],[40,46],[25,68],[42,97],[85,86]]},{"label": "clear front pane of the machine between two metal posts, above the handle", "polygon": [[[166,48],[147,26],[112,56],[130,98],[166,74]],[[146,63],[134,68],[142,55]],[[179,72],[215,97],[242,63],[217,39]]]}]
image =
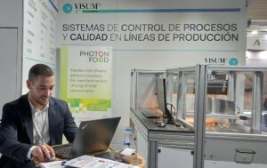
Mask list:
[{"label": "clear front pane of the machine between two metal posts, above the handle", "polygon": [[252,72],[209,72],[206,132],[251,132],[253,76]]}]

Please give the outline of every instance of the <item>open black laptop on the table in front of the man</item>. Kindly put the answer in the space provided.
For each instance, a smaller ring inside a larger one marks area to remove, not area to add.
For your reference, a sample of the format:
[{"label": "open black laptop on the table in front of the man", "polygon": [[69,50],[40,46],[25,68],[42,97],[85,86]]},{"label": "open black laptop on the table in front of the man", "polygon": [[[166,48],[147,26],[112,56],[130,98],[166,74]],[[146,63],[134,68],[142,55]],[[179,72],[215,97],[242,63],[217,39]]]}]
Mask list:
[{"label": "open black laptop on the table in front of the man", "polygon": [[82,155],[92,155],[105,151],[116,132],[121,117],[82,121],[72,144],[53,147],[55,156],[72,159]]}]

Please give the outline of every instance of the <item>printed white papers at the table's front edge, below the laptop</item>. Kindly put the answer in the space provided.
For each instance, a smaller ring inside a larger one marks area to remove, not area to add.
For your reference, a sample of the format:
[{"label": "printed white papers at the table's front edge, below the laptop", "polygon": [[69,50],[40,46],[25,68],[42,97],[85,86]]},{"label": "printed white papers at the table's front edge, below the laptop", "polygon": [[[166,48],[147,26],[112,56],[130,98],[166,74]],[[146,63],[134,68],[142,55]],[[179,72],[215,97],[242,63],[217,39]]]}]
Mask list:
[{"label": "printed white papers at the table's front edge, below the laptop", "polygon": [[67,161],[64,165],[74,168],[138,168],[131,164],[123,164],[94,156],[79,156]]}]

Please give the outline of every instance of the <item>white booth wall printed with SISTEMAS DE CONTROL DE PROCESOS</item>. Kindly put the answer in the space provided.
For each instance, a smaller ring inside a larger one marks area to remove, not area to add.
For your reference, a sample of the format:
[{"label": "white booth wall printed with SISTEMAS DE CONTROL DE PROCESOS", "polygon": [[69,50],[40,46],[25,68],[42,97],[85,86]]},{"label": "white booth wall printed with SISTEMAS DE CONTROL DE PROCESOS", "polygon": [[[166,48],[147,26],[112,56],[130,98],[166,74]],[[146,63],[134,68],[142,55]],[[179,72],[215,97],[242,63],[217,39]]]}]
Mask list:
[{"label": "white booth wall printed with SISTEMAS DE CONTROL DE PROCESOS", "polygon": [[[194,9],[194,10],[192,10]],[[209,9],[210,12],[204,12]],[[218,12],[218,9],[222,12]],[[183,11],[184,10],[184,11]],[[196,11],[197,10],[197,11]],[[216,12],[215,12],[216,11]],[[233,25],[232,31],[201,31],[185,28],[188,24]],[[123,25],[150,24],[158,30],[125,30]],[[72,26],[71,26],[72,25]],[[82,25],[81,28],[79,27]],[[176,28],[170,28],[173,26]],[[85,28],[86,26],[89,27]],[[166,69],[197,63],[245,65],[247,7],[245,1],[161,1],[99,0],[59,2],[57,44],[113,47],[113,99],[111,112],[92,112],[91,118],[122,116],[114,141],[122,142],[122,131],[129,124],[130,70]],[[129,39],[140,34],[138,39]],[[228,34],[238,40],[189,40],[174,34]],[[99,36],[98,39],[96,36]],[[117,37],[116,37],[117,36]],[[149,36],[145,38],[145,36]],[[150,38],[152,36],[152,38]],[[153,38],[155,37],[155,39]],[[233,61],[232,61],[233,60]]]}]

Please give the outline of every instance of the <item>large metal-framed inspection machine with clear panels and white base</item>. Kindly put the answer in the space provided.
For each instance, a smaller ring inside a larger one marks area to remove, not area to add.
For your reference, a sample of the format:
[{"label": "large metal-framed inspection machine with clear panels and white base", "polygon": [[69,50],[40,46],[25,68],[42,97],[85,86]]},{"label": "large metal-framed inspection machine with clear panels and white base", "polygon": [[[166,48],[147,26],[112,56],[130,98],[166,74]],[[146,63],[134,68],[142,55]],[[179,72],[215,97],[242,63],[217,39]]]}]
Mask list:
[{"label": "large metal-framed inspection machine with clear panels and white base", "polygon": [[[130,124],[148,167],[180,162],[190,168],[266,166],[267,68],[197,65],[164,72],[134,69],[131,76]],[[158,76],[166,77],[167,102],[176,109],[176,121],[191,132],[172,124],[158,127],[142,115],[142,109],[158,106]]]}]

